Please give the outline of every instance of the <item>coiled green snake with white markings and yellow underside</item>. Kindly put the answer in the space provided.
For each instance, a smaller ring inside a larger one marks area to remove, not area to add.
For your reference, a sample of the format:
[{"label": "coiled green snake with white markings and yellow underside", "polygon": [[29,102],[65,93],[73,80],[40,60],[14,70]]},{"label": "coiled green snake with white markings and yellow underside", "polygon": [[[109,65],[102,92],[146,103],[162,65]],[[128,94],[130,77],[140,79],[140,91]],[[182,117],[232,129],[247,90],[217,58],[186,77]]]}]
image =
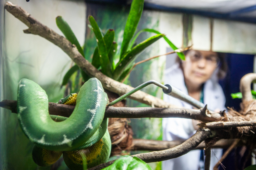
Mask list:
[{"label": "coiled green snake with white markings and yellow underside", "polygon": [[18,120],[25,135],[35,143],[32,150],[34,162],[39,166],[50,166],[61,154],[71,170],[107,162],[111,140],[104,113],[109,100],[100,81],[89,79],[77,96],[70,94],[58,103],[76,103],[69,118],[49,115],[46,92],[31,80],[20,80]]}]

